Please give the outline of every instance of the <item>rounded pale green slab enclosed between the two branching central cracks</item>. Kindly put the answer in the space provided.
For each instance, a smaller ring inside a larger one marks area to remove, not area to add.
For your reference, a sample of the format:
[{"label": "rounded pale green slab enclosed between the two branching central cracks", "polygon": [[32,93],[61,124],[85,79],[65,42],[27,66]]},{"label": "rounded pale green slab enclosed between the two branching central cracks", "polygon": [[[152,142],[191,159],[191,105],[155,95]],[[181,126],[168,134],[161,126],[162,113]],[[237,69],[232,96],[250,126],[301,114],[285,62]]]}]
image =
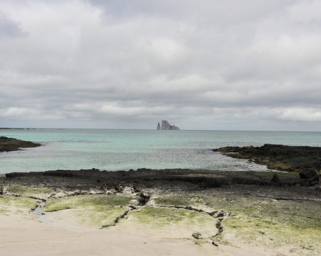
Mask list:
[{"label": "rounded pale green slab enclosed between the two branching central cracks", "polygon": [[193,233],[209,238],[218,233],[218,220],[212,216],[185,209],[144,206],[128,213],[115,228],[148,237],[194,239]]}]

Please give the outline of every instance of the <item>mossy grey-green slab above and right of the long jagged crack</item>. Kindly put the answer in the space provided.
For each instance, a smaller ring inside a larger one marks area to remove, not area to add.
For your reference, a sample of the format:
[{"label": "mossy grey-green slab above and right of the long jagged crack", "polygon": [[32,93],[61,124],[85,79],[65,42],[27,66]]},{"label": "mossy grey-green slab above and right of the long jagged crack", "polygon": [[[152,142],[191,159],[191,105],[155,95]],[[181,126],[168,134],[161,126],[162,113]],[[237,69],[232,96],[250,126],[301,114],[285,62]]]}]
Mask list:
[{"label": "mossy grey-green slab above and right of the long jagged crack", "polygon": [[[273,174],[270,174],[271,178]],[[283,175],[298,174],[280,173],[280,176]],[[221,210],[236,214],[235,217],[226,217],[221,222],[223,232],[213,238],[219,244],[265,247],[275,253],[282,249],[286,255],[288,252],[290,255],[319,255],[320,252],[319,201],[277,201],[207,189],[161,194],[152,198],[151,202],[156,205],[188,205],[203,210]]]}]

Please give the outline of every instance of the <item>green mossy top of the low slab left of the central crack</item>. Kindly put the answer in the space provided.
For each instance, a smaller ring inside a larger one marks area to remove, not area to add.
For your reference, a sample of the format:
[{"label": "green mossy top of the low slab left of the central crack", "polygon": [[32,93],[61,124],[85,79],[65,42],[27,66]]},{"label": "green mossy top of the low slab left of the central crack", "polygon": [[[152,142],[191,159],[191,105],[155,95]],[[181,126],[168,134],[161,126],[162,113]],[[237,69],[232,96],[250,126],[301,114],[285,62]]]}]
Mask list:
[{"label": "green mossy top of the low slab left of the central crack", "polygon": [[136,200],[134,196],[120,194],[67,196],[48,202],[43,210],[53,212],[68,208],[126,206],[132,200]]}]

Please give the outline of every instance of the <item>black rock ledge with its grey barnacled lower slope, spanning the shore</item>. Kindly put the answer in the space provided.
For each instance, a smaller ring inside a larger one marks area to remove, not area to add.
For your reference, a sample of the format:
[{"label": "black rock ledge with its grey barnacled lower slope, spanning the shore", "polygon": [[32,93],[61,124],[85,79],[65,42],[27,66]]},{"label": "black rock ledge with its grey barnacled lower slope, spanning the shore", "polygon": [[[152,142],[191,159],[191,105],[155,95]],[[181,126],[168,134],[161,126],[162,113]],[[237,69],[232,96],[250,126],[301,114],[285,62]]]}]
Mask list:
[{"label": "black rock ledge with its grey barnacled lower slope, spanning the shore", "polygon": [[[100,193],[135,193],[139,196],[138,203],[140,205],[149,204],[150,196],[156,191],[156,193],[167,193],[168,191],[199,191],[203,193],[202,191],[204,191],[204,193],[210,194],[251,195],[276,200],[321,201],[319,185],[315,187],[316,189],[310,189],[308,179],[300,179],[299,174],[294,173],[280,173],[280,183],[272,183],[270,180],[273,174],[273,172],[152,170],[145,168],[131,172],[107,172],[93,168],[78,171],[8,173],[6,177],[0,178],[0,184],[6,184],[6,186],[10,186],[10,184],[11,186],[16,184],[48,186],[53,189],[59,188],[59,191],[62,190],[65,194],[71,193],[70,195],[88,194],[91,189],[100,191]],[[97,180],[100,182],[98,183]],[[246,184],[242,184],[242,182]],[[299,184],[298,182],[306,185],[290,185]],[[255,185],[255,183],[259,185]],[[225,215],[217,213],[215,216]]]}]

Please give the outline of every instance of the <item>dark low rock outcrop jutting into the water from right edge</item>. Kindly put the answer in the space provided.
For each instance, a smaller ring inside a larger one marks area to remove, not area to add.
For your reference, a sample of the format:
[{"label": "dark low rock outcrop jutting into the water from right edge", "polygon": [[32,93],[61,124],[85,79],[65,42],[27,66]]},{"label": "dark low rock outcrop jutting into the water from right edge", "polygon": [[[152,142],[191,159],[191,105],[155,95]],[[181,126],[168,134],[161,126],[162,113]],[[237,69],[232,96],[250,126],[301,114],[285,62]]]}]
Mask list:
[{"label": "dark low rock outcrop jutting into the water from right edge", "polygon": [[284,146],[265,144],[261,147],[224,147],[213,149],[234,158],[250,159],[267,168],[288,172],[300,172],[306,168],[321,170],[321,147]]}]

